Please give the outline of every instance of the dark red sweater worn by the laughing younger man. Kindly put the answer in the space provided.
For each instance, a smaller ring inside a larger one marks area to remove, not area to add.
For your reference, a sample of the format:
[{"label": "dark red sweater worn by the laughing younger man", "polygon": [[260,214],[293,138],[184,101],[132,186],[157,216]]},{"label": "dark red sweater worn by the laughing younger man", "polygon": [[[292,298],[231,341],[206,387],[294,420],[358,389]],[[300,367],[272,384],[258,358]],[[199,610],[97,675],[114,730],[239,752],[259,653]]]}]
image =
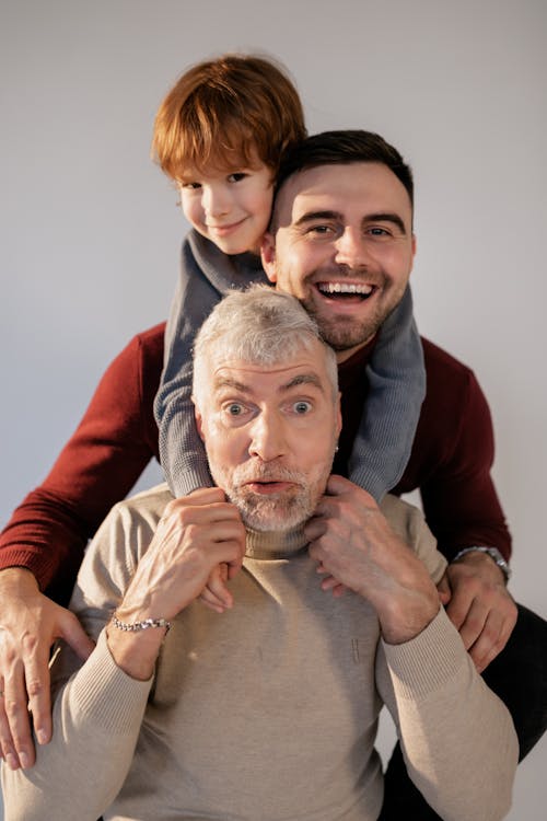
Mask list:
[{"label": "dark red sweater worn by the laughing younger man", "polygon": [[[0,569],[30,568],[48,595],[70,597],[88,540],[113,505],[158,459],[153,400],[163,366],[164,325],[136,336],[112,362],[51,472],[14,510],[0,534]],[[450,559],[462,547],[511,536],[490,476],[493,432],[473,372],[423,340],[428,389],[412,454],[394,493],[419,487],[429,527]],[[340,367],[344,429],[335,471],[345,464],[366,395],[370,348]]]}]

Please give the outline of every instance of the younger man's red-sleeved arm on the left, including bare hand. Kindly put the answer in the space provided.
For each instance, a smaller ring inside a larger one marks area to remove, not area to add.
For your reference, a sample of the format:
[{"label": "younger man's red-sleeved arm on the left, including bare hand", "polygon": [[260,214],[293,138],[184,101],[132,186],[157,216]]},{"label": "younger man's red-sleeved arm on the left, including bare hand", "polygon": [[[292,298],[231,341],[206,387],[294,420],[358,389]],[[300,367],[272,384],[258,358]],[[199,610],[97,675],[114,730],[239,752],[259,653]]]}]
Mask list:
[{"label": "younger man's red-sleeved arm on the left, including bare hand", "polygon": [[158,452],[152,402],[162,351],[158,326],[113,361],[50,474],[0,536],[0,675],[7,694],[0,701],[0,743],[14,764],[19,753],[34,761],[27,685],[35,729],[44,742],[50,736],[51,643],[63,637],[80,657],[91,650],[73,616],[40,591],[68,601],[88,539]]}]

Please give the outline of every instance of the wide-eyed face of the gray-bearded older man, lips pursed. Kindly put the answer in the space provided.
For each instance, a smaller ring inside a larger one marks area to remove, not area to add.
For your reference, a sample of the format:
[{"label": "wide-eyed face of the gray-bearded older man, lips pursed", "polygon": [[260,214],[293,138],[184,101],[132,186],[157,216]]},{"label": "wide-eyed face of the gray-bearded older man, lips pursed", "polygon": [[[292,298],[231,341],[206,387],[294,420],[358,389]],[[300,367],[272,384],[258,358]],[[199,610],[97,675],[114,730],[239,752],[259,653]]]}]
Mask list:
[{"label": "wide-eyed face of the gray-bearded older man, lips pursed", "polygon": [[222,356],[211,366],[196,418],[214,482],[249,528],[301,524],[324,493],[341,425],[323,345],[268,368]]}]

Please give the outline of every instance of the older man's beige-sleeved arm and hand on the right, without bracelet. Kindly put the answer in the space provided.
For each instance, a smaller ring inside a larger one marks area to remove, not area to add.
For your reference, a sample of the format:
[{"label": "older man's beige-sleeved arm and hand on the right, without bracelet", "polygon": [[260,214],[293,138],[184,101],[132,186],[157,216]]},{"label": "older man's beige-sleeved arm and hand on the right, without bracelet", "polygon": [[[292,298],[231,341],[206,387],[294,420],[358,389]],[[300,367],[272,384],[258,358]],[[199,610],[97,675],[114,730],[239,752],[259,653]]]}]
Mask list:
[{"label": "older man's beige-sleeved arm and hand on the right, without bracelet", "polygon": [[385,508],[388,523],[347,479],[331,476],[327,490],[306,528],[310,554],[319,573],[335,576],[376,611],[377,686],[397,722],[410,776],[449,821],[502,818],[516,737],[507,708],[480,680],[439,608],[433,582],[444,564],[434,540],[412,514],[406,535],[415,553],[405,531],[391,525],[393,501]]}]

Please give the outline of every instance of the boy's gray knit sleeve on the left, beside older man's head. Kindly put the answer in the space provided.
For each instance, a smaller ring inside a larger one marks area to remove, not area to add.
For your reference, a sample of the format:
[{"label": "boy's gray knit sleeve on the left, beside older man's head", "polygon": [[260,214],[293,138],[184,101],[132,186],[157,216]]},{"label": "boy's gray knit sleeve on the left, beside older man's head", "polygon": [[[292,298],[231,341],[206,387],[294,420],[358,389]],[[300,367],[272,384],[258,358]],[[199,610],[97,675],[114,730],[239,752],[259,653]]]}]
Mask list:
[{"label": "boy's gray knit sleeve on the left, beside older man's head", "polygon": [[188,240],[165,332],[165,361],[155,397],[160,461],[174,496],[212,487],[191,402],[193,346],[197,331],[222,294],[199,268]]}]

